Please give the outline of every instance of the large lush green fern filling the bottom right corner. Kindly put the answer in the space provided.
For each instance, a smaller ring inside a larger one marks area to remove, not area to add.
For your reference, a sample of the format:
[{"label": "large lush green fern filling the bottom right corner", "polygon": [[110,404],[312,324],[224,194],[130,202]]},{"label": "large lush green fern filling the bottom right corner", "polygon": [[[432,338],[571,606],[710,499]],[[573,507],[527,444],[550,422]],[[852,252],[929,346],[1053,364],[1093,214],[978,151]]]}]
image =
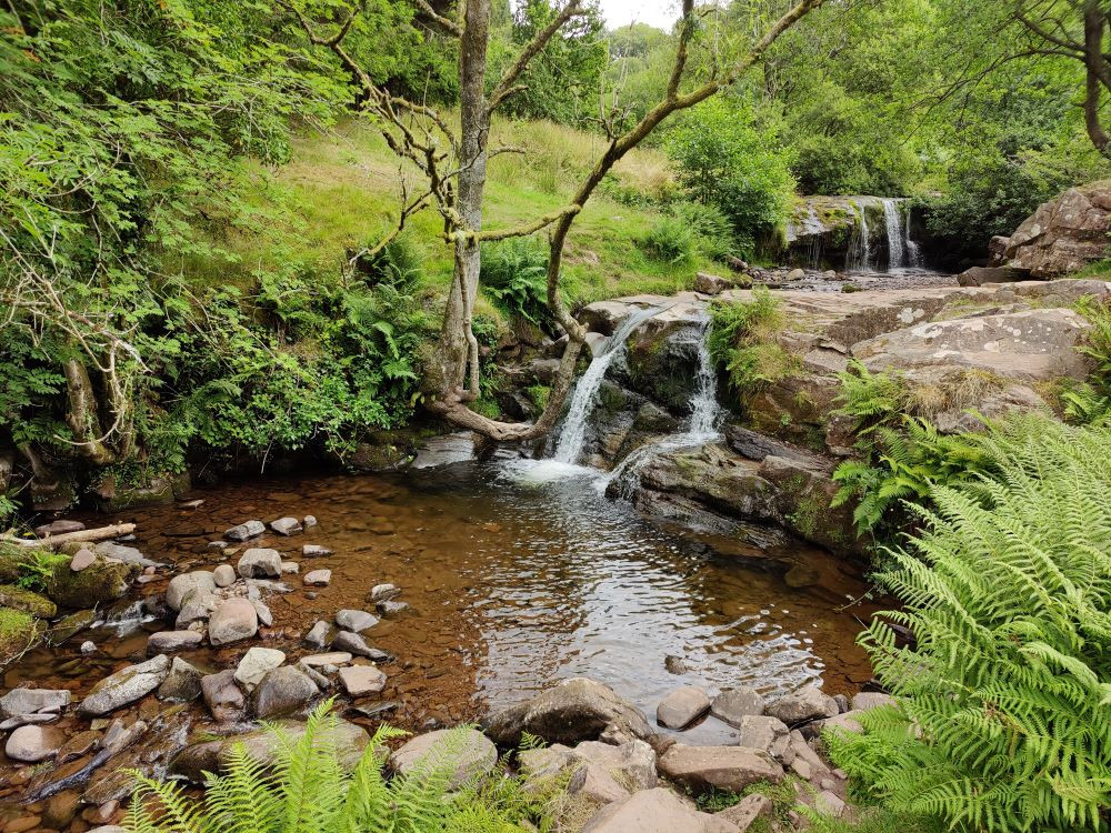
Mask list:
[{"label": "large lush green fern filling the bottom right corner", "polygon": [[[828,737],[872,800],[958,831],[1099,831],[1111,804],[1111,429],[1017,419],[937,485],[861,635],[895,706]],[[901,646],[885,622],[917,638]]]}]

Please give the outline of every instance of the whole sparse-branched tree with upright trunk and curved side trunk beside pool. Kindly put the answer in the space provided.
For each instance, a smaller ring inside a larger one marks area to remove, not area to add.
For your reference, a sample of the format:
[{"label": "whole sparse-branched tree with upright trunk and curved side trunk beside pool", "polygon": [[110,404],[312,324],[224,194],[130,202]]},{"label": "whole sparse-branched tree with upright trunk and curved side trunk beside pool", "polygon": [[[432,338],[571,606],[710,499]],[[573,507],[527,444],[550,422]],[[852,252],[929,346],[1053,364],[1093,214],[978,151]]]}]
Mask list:
[{"label": "whole sparse-branched tree with upright trunk and curved side trunk beside pool", "polygon": [[[678,23],[674,56],[663,94],[640,118],[628,119],[614,103],[600,113],[608,144],[592,170],[579,183],[572,201],[554,211],[508,229],[483,228],[483,195],[487,162],[511,148],[489,147],[493,113],[520,93],[522,78],[532,60],[564,27],[581,21],[588,8],[582,0],[567,0],[524,44],[491,89],[486,76],[490,47],[491,0],[461,0],[454,12],[441,13],[428,0],[417,0],[423,21],[459,41],[459,124],[422,101],[394,94],[378,84],[346,47],[354,21],[363,11],[357,3],[321,7],[279,0],[292,13],[310,42],[329,50],[350,72],[361,91],[363,107],[381,130],[390,148],[422,174],[417,193],[403,189],[396,229],[374,247],[378,249],[400,233],[407,218],[432,207],[443,220],[443,239],[452,247],[454,268],[436,355],[426,362],[428,408],[450,422],[497,441],[521,441],[542,436],[558,419],[574,374],[575,361],[585,341],[585,331],[571,315],[560,293],[563,245],[574,219],[613,165],[635,148],[659,124],[677,111],[689,109],[728,88],[754,66],[775,40],[823,0],[795,0],[782,14],[762,27],[761,37],[745,43],[735,58],[721,66],[688,68],[692,43],[700,32],[700,16],[693,0],[683,0]],[[327,33],[324,33],[327,31]],[[755,30],[758,31],[758,30]],[[709,53],[720,54],[713,49]],[[701,63],[701,62],[700,62]],[[552,318],[568,334],[559,371],[543,413],[534,423],[507,423],[472,411],[468,403],[479,397],[479,347],[472,331],[472,314],[479,289],[480,244],[548,231],[548,307]],[[372,250],[373,251],[373,250]]]}]

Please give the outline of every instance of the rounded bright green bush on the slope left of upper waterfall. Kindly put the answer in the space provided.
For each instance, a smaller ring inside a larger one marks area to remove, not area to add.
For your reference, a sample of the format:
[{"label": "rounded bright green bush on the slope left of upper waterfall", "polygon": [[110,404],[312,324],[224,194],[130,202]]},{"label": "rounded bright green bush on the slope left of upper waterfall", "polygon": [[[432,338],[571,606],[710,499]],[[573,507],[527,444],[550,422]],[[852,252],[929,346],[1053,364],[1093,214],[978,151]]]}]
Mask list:
[{"label": "rounded bright green bush on the slope left of upper waterfall", "polygon": [[755,127],[749,109],[710,99],[679,119],[667,149],[689,197],[729,218],[738,249],[751,254],[778,233],[794,180],[774,136]]}]

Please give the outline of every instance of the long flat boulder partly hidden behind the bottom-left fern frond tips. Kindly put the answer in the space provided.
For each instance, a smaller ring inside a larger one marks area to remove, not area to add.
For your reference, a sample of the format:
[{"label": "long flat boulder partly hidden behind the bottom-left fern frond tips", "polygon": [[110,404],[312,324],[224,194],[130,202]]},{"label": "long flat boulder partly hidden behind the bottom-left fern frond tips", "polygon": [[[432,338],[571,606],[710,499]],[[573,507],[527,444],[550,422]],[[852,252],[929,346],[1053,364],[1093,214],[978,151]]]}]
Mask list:
[{"label": "long flat boulder partly hidden behind the bottom-left fern frond tips", "polygon": [[[293,743],[304,735],[302,721],[282,720],[278,721],[278,726]],[[337,722],[332,739],[336,742],[340,767],[344,772],[351,772],[369,745],[370,735],[362,726],[340,720]],[[264,731],[248,732],[187,746],[171,761],[170,773],[194,783],[203,783],[204,772],[220,772],[237,743],[243,744],[248,755],[264,766],[273,764],[277,760],[279,741],[273,734]]]}]

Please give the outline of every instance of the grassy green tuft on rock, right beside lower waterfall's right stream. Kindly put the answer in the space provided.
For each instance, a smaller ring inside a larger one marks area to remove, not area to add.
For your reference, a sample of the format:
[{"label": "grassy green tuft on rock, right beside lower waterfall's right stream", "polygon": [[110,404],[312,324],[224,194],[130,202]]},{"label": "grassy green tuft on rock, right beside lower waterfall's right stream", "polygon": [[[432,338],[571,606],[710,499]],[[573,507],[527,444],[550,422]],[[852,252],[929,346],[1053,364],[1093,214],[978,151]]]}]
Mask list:
[{"label": "grassy green tuft on rock, right beside lower waterfall's right stream", "polygon": [[742,401],[798,368],[798,359],[774,341],[782,311],[767,287],[757,287],[748,302],[712,303],[710,315],[710,355],[724,368],[730,387]]}]

